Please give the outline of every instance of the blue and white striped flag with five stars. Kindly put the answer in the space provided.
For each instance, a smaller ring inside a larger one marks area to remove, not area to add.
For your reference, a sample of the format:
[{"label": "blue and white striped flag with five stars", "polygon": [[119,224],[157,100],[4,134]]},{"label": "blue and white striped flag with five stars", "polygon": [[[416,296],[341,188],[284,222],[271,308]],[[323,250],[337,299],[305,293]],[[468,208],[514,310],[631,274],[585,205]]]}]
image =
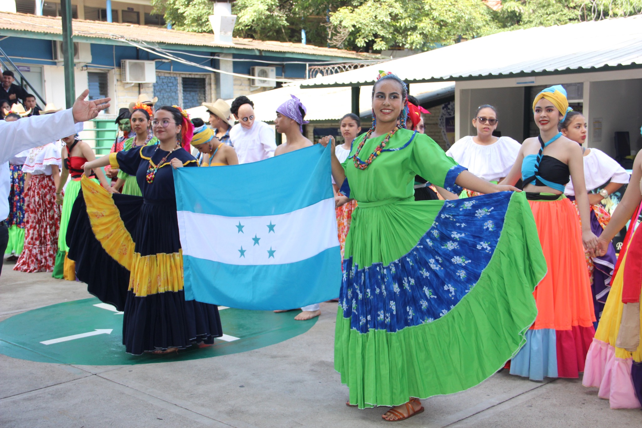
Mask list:
[{"label": "blue and white striped flag with five stars", "polygon": [[330,150],[174,170],[187,300],[295,309],[339,295]]}]

